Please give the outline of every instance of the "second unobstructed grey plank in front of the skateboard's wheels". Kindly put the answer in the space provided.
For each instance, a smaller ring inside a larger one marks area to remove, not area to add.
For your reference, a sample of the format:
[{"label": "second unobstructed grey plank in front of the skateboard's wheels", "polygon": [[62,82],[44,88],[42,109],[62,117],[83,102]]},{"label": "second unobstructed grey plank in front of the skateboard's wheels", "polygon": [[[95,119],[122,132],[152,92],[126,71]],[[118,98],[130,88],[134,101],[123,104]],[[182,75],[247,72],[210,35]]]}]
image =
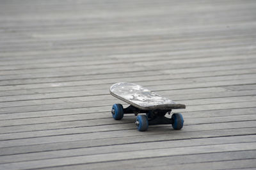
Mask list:
[{"label": "second unobstructed grey plank in front of the skateboard's wheels", "polygon": [[[234,137],[217,137],[213,139],[190,139],[186,141],[159,141],[157,142],[157,148],[178,148],[186,146],[200,146],[200,145],[214,145],[214,144],[231,144],[231,143],[251,143],[255,142],[254,135],[248,135],[246,138],[242,136]],[[142,147],[142,148],[141,148]],[[140,143],[134,144],[120,144],[115,146],[116,152],[124,151],[134,151],[134,150],[150,150],[155,149],[156,146],[152,143],[144,143],[142,146]],[[91,155],[91,154],[102,154],[111,153],[113,146],[99,146],[99,150],[95,148],[78,148],[78,149],[68,149],[68,150],[52,150],[52,151],[42,151],[35,153],[24,153],[22,155],[6,155],[1,160],[1,164],[10,163],[10,160],[15,160],[15,162],[27,161],[27,160],[39,160],[44,158],[59,158],[72,157],[76,155]],[[239,156],[239,155],[237,155]],[[201,160],[202,161],[202,160]]]}]

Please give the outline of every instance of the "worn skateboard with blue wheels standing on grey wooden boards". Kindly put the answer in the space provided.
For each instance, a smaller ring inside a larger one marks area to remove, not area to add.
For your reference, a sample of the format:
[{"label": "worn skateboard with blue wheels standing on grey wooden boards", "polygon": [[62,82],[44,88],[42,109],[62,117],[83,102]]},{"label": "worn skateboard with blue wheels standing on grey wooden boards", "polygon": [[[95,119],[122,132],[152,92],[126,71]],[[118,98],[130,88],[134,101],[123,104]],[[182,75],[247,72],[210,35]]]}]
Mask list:
[{"label": "worn skateboard with blue wheels standing on grey wooden boards", "polygon": [[148,125],[172,124],[175,130],[183,127],[182,114],[173,113],[172,118],[166,118],[165,115],[170,114],[172,109],[186,109],[184,104],[177,104],[169,98],[130,82],[113,84],[109,91],[114,97],[130,104],[127,108],[122,104],[113,105],[111,113],[115,120],[122,120],[124,114],[134,114],[137,116],[135,124],[139,131],[146,131]]}]

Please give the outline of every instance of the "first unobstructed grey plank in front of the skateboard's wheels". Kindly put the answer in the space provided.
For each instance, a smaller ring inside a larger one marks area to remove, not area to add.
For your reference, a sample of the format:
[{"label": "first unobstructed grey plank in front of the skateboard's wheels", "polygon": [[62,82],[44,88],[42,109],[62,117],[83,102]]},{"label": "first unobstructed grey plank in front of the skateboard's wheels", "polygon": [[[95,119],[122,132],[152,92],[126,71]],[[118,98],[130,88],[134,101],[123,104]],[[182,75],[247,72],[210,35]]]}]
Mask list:
[{"label": "first unobstructed grey plank in front of the skateboard's wheels", "polygon": [[[245,132],[245,133],[244,133]],[[68,141],[66,143],[60,142],[52,142],[45,144],[30,144],[30,145],[19,145],[15,147],[6,147],[0,148],[1,155],[13,155],[19,153],[30,153],[30,152],[38,152],[38,151],[51,151],[51,150],[65,150],[70,148],[90,148],[90,147],[99,147],[99,146],[116,146],[118,144],[129,144],[129,143],[150,143],[156,141],[177,141],[181,140],[186,141],[188,139],[204,139],[204,138],[214,138],[214,137],[228,137],[241,135],[246,138],[246,135],[255,135],[255,128],[237,128],[237,129],[223,129],[221,130],[210,130],[207,131],[207,134],[202,134],[202,132],[189,132],[185,135],[163,135],[163,133],[159,133],[156,135],[135,135],[129,137],[116,137],[115,140],[113,138],[106,139],[93,139],[92,140],[79,140],[79,141]],[[177,136],[179,136],[178,139]],[[15,149],[13,149],[15,148]]]}]

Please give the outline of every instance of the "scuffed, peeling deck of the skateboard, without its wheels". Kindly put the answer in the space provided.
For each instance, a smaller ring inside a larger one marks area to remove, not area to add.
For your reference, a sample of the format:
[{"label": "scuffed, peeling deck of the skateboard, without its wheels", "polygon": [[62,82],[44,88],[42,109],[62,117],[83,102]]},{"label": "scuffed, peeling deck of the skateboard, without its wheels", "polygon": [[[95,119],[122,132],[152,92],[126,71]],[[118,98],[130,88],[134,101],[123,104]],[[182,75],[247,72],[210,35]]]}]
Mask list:
[{"label": "scuffed, peeling deck of the skateboard, without its wheels", "polygon": [[130,82],[118,82],[109,89],[110,94],[141,110],[185,109],[186,105],[177,104],[147,88]]}]

